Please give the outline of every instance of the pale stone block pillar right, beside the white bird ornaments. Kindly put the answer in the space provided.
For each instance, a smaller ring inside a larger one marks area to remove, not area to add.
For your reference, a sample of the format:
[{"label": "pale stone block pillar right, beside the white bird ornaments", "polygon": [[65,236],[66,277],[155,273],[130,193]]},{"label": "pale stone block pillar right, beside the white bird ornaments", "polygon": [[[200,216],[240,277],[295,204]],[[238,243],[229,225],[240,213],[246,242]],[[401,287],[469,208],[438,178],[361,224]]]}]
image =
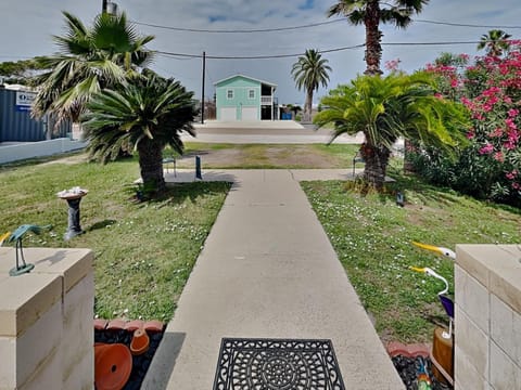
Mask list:
[{"label": "pale stone block pillar right, beside the white bird ornaments", "polygon": [[456,390],[521,389],[521,246],[456,247]]}]

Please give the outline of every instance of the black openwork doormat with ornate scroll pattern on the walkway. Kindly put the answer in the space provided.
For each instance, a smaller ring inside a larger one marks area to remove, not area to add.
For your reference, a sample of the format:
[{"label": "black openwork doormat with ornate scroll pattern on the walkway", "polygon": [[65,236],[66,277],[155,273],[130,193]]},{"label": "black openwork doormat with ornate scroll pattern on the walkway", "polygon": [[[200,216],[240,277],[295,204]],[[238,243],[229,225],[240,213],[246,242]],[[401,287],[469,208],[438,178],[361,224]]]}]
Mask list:
[{"label": "black openwork doormat with ornate scroll pattern on the walkway", "polygon": [[214,390],[345,390],[331,340],[224,338]]}]

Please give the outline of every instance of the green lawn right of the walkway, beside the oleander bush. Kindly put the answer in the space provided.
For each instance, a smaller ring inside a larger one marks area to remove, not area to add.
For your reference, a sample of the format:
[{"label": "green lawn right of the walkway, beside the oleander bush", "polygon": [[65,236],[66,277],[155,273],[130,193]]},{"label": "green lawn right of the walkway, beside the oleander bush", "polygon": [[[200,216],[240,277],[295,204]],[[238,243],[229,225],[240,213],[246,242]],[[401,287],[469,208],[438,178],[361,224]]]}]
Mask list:
[{"label": "green lawn right of the walkway, beside the oleander bush", "polygon": [[[447,323],[436,297],[444,285],[408,268],[434,269],[454,294],[454,263],[411,242],[452,249],[519,243],[521,214],[396,178],[387,195],[361,196],[356,184],[339,181],[302,185],[382,340],[430,341],[435,324]],[[404,208],[396,206],[396,190],[405,194]]]}]

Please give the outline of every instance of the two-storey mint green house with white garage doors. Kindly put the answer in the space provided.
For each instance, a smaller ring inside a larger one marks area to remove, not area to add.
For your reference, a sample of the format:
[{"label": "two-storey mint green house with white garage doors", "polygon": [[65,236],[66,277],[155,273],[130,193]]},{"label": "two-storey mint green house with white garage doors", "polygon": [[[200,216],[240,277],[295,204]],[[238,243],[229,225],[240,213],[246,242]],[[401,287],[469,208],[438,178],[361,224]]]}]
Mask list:
[{"label": "two-storey mint green house with white garage doors", "polygon": [[234,75],[214,86],[217,120],[274,120],[279,117],[274,96],[277,84]]}]

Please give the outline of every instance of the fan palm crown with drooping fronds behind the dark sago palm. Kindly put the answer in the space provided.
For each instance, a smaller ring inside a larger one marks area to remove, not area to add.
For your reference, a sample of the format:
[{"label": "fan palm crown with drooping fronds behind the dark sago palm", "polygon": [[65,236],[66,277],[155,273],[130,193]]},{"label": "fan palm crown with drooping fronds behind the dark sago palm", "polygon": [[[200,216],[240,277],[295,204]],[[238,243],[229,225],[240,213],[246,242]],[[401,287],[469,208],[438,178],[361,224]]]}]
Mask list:
[{"label": "fan palm crown with drooping fronds behind the dark sago palm", "polygon": [[38,94],[33,115],[53,114],[58,122],[77,121],[93,93],[125,80],[132,69],[147,65],[144,49],[153,36],[138,36],[125,13],[102,13],[87,28],[79,18],[63,12],[64,36],[54,36],[60,52],[46,62],[51,69],[36,78]]}]

